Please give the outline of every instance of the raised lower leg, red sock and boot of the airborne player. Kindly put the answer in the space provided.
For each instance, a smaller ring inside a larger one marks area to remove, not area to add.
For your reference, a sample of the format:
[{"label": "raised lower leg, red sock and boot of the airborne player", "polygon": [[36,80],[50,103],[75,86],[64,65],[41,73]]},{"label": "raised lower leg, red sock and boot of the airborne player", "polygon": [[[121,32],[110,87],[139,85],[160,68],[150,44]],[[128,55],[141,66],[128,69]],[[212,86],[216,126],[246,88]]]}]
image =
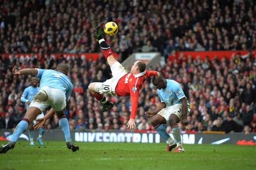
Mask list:
[{"label": "raised lower leg, red sock and boot of the airborne player", "polygon": [[102,29],[100,25],[97,25],[97,27],[95,27],[93,32],[94,32],[94,37],[99,41],[99,46],[101,48],[102,54],[104,55],[104,58],[107,59],[109,67],[111,67],[112,64],[117,62],[117,60],[114,58],[112,50],[110,49],[109,45],[103,38]]}]

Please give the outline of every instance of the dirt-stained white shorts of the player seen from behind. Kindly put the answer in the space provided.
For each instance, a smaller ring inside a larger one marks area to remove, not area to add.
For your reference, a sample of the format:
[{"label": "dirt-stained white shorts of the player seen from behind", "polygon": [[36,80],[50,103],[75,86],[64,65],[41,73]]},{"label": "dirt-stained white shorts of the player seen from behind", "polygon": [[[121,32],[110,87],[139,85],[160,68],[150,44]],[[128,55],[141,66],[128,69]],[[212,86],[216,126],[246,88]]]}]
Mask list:
[{"label": "dirt-stained white shorts of the player seen from behind", "polygon": [[54,111],[61,111],[66,105],[65,91],[43,86],[37,92],[29,107],[37,107],[43,111],[45,108],[51,106]]}]

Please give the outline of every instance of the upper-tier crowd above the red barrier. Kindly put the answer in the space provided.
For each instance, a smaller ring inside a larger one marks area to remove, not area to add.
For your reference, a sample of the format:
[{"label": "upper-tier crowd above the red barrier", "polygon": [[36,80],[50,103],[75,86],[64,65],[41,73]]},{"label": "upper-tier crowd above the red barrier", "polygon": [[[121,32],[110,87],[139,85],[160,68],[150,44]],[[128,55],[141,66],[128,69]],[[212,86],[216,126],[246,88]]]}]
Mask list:
[{"label": "upper-tier crowd above the red barrier", "polygon": [[118,24],[107,42],[123,59],[138,49],[256,49],[255,0],[1,0],[0,52],[97,52],[92,12]]}]

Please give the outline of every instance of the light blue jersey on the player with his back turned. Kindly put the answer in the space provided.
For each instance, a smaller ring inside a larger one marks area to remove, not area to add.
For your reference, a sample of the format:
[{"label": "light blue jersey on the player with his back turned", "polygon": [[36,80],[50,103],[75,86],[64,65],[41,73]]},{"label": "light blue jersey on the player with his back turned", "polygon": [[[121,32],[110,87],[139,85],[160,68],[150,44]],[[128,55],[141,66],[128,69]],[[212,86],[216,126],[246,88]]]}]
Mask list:
[{"label": "light blue jersey on the player with his back turned", "polygon": [[72,90],[73,84],[71,83],[70,79],[63,73],[50,70],[50,69],[37,69],[37,78],[40,78],[40,87],[48,86],[55,89],[60,89],[65,91],[66,93],[66,100],[69,98]]}]

